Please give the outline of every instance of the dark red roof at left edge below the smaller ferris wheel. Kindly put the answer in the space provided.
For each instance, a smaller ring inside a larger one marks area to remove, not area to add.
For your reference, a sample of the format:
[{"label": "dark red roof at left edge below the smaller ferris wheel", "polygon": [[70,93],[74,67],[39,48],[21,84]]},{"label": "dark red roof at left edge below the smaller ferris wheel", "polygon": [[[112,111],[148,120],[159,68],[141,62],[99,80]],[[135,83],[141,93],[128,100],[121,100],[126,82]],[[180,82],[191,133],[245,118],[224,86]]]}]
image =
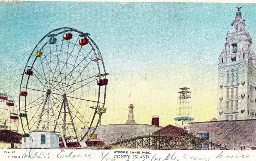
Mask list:
[{"label": "dark red roof at left edge below the smaller ferris wheel", "polygon": [[20,143],[22,134],[13,132],[11,130],[0,130],[0,142]]}]

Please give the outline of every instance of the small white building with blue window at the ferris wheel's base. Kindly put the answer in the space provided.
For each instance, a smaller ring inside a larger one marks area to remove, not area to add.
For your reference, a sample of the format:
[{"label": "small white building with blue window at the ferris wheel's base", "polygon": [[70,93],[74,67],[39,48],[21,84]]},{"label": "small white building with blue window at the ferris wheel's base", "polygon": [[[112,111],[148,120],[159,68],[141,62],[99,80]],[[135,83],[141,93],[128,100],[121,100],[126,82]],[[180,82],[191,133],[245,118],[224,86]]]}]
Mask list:
[{"label": "small white building with blue window at the ferris wheel's base", "polygon": [[59,132],[30,131],[22,138],[22,149],[59,149]]}]

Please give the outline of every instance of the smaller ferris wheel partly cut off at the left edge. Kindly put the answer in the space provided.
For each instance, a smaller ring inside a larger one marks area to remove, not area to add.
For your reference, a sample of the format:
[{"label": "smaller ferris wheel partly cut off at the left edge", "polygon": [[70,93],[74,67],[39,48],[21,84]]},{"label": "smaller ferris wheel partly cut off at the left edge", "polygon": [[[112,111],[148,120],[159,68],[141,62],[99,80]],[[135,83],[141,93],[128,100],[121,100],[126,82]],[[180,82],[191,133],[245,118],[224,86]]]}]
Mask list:
[{"label": "smaller ferris wheel partly cut off at the left edge", "polygon": [[0,93],[0,130],[18,132],[19,114],[12,96]]}]

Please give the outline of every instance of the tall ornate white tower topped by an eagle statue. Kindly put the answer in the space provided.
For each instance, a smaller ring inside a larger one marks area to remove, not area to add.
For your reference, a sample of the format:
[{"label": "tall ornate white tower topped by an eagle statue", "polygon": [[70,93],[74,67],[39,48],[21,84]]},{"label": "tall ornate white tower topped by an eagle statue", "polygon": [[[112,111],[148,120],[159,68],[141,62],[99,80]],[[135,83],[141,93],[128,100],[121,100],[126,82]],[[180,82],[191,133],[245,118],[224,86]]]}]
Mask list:
[{"label": "tall ornate white tower topped by an eagle statue", "polygon": [[218,64],[219,120],[255,119],[256,66],[252,38],[240,8],[226,36]]}]

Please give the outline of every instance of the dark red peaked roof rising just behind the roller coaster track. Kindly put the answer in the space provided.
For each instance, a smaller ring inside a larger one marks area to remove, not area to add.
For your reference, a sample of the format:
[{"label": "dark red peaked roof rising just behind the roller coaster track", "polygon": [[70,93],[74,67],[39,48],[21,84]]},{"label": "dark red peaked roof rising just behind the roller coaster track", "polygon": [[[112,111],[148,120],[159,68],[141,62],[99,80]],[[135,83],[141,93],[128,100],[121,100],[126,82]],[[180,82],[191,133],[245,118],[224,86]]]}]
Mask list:
[{"label": "dark red peaked roof rising just behind the roller coaster track", "polygon": [[153,133],[153,135],[186,135],[188,131],[181,127],[167,125]]}]

